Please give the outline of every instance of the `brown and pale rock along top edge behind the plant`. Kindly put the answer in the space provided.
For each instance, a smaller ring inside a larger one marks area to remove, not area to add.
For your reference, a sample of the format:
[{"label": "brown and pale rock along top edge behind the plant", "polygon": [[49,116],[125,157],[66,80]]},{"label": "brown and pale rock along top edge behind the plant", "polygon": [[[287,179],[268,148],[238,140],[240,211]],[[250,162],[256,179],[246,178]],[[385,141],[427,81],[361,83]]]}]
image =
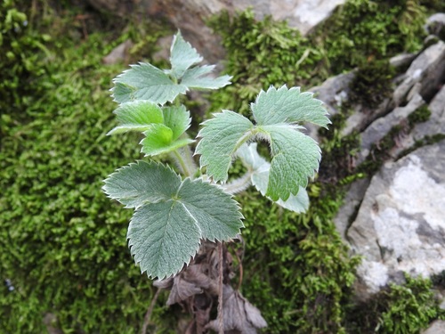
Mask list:
[{"label": "brown and pale rock along top edge behind the plant", "polygon": [[227,11],[233,15],[252,8],[258,20],[271,15],[275,20],[287,20],[290,27],[307,34],[326,20],[336,6],[345,0],[84,0],[100,11],[117,15],[142,13],[156,19],[166,19],[182,30],[183,37],[194,45],[209,62],[223,58],[219,37],[206,26],[210,16]]}]

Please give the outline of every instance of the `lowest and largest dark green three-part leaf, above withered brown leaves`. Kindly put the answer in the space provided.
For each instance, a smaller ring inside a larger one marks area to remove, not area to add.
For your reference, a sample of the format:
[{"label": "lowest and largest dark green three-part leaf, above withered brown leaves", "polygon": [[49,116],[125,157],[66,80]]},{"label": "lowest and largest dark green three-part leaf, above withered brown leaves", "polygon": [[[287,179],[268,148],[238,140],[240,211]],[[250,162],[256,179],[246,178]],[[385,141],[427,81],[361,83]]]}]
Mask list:
[{"label": "lowest and largest dark green three-part leaf, above withered brown leaves", "polygon": [[131,253],[141,271],[163,279],[189,264],[201,239],[230,240],[243,227],[239,206],[221,188],[181,181],[169,167],[139,161],[105,180],[104,191],[136,208],[128,227]]}]

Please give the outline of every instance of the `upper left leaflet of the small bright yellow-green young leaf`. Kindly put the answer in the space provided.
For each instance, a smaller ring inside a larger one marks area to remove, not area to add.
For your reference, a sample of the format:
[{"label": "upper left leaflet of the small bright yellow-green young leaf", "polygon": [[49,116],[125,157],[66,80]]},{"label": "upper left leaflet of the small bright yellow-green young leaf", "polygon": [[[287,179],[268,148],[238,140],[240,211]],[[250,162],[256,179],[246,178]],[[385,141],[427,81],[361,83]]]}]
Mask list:
[{"label": "upper left leaflet of the small bright yellow-green young leaf", "polygon": [[164,116],[157,104],[148,101],[122,103],[117,110],[117,123],[108,134],[121,134],[128,131],[145,131],[152,123],[162,123]]}]

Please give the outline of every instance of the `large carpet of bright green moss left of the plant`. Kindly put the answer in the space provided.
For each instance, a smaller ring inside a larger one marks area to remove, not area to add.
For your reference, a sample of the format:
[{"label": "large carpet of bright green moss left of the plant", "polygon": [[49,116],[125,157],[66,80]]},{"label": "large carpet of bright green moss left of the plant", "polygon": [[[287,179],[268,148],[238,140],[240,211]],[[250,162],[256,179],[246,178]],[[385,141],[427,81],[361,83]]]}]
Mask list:
[{"label": "large carpet of bright green moss left of the plant", "polygon": [[[77,35],[77,13],[64,15],[53,15],[45,52],[26,52],[39,60],[33,70],[11,69],[21,86],[5,88],[28,100],[2,108],[0,280],[15,289],[0,287],[0,332],[45,332],[44,314],[53,313],[65,333],[136,333],[153,288],[126,245],[131,213],[101,192],[101,180],[140,157],[138,138],[105,135],[115,122],[109,86],[122,66],[101,58],[119,41],[90,26],[88,37]],[[38,35],[24,34],[20,50]],[[166,332],[172,318],[158,306],[153,326]]]}]

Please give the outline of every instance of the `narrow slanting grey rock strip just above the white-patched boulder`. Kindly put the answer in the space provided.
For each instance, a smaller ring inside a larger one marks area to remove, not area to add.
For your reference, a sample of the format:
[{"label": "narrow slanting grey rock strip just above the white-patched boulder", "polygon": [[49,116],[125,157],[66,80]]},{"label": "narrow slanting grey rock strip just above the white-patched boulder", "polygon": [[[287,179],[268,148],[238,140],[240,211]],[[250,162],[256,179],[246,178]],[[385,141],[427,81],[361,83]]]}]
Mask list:
[{"label": "narrow slanting grey rock strip just above the white-patched boulder", "polygon": [[393,126],[398,126],[401,121],[409,117],[413,111],[423,106],[425,101],[419,94],[416,94],[409,104],[405,107],[399,107],[383,118],[377,118],[366,130],[360,134],[360,152],[356,159],[357,165],[360,165],[369,154],[373,143],[378,143],[386,134],[390,132]]}]

